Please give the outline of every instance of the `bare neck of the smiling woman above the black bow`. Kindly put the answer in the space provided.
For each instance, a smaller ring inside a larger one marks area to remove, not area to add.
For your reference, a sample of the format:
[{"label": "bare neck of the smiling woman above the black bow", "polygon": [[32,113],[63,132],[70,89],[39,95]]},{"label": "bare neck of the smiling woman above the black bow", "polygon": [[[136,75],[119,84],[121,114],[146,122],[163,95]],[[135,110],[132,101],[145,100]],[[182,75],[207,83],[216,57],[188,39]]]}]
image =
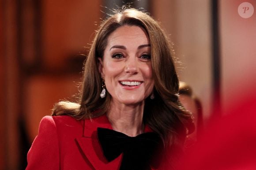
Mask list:
[{"label": "bare neck of the smiling woman above the black bow", "polygon": [[111,103],[107,117],[113,130],[135,137],[144,131],[143,110],[144,103],[132,106]]}]

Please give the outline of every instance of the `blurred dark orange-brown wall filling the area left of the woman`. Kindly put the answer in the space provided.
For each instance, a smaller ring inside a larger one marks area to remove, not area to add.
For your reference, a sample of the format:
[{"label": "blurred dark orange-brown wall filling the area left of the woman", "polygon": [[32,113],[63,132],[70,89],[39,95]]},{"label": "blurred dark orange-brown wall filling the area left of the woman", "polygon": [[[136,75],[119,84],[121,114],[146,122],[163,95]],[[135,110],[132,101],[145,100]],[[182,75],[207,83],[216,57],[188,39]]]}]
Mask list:
[{"label": "blurred dark orange-brown wall filling the area left of the woman", "polygon": [[41,118],[59,100],[75,100],[84,60],[78,54],[94,37],[100,4],[1,1],[0,170],[25,169]]}]

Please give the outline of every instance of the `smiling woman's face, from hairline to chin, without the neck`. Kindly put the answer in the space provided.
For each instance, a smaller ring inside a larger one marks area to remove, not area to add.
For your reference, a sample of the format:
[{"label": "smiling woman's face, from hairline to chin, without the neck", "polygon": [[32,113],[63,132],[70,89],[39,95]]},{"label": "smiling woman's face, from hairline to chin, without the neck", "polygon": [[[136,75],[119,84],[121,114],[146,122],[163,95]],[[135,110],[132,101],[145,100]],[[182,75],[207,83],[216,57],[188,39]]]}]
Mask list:
[{"label": "smiling woman's face, from hairline to chin, without the neck", "polygon": [[133,105],[152,92],[150,41],[139,26],[121,26],[108,37],[99,71],[117,104]]}]

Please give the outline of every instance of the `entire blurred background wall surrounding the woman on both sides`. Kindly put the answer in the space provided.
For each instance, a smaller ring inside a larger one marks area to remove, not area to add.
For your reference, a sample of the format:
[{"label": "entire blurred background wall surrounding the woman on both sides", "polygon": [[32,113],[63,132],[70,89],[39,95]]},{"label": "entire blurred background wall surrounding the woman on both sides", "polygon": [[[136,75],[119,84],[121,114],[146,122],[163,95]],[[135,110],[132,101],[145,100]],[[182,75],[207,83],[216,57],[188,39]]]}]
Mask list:
[{"label": "entire blurred background wall surrounding the woman on both sides", "polygon": [[169,35],[204,124],[225,115],[230,101],[246,100],[256,78],[255,0],[1,0],[0,170],[25,169],[41,118],[78,92],[79,53],[106,14],[126,3],[150,12]]}]

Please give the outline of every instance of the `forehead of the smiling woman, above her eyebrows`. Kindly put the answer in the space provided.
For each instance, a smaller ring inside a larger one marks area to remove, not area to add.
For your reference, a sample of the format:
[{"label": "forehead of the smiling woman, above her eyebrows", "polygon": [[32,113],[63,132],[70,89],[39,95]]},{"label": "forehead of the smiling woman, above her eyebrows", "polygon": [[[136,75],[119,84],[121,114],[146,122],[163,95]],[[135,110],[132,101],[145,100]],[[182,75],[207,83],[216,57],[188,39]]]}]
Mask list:
[{"label": "forehead of the smiling woman, above her eyebrows", "polygon": [[108,37],[107,46],[150,44],[146,30],[139,26],[120,26]]}]

